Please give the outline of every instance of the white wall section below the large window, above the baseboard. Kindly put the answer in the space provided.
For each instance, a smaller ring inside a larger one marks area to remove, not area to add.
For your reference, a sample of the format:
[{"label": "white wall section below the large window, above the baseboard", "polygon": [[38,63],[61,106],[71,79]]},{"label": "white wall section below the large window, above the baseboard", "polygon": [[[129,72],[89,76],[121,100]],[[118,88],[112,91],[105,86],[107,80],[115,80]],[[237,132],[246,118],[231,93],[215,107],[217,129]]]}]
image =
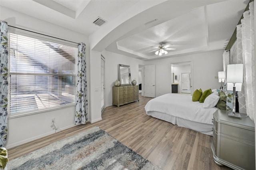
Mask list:
[{"label": "white wall section below the large window, above the baseboard", "polygon": [[12,148],[55,132],[51,126],[51,119],[55,118],[55,125],[59,132],[74,126],[75,106],[57,109],[44,113],[23,117],[8,118],[8,136],[6,148]]}]

